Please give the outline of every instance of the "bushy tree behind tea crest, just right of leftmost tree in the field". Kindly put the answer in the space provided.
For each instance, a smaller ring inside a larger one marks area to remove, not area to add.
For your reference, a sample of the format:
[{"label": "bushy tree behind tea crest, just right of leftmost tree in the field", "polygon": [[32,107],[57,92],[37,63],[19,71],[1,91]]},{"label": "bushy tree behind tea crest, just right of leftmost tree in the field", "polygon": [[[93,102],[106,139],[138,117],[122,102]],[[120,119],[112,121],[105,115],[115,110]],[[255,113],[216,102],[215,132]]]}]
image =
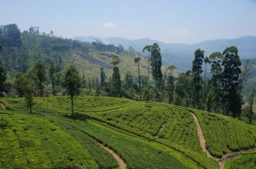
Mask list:
[{"label": "bushy tree behind tea crest, just right of leftmost tree in the field", "polygon": [[40,96],[44,95],[44,82],[46,79],[44,63],[40,59],[36,62],[36,65],[33,67],[32,74],[34,75],[34,80],[40,90]]}]

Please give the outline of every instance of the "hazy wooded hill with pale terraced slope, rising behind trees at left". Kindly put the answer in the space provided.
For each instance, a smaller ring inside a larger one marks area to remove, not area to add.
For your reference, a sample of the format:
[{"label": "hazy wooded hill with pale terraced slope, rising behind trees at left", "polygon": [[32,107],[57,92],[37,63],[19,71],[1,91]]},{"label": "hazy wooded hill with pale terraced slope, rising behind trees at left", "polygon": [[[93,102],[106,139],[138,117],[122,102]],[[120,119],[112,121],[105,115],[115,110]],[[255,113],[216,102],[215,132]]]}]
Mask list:
[{"label": "hazy wooded hill with pale terraced slope, rising behind trees at left", "polygon": [[[31,70],[35,62],[42,59],[45,68],[52,60],[55,65],[63,69],[66,65],[76,65],[85,81],[100,76],[101,67],[104,68],[107,78],[112,75],[111,65],[114,55],[120,59],[119,67],[121,78],[129,72],[137,76],[137,65],[134,58],[135,50],[126,50],[121,45],[104,44],[97,42],[79,42],[72,39],[55,37],[53,31],[42,33],[38,27],[32,26],[28,31],[20,30],[17,25],[2,25],[0,29],[0,59],[8,71],[8,81],[13,81],[17,72]],[[146,76],[147,61],[141,60],[142,75]]]}]

